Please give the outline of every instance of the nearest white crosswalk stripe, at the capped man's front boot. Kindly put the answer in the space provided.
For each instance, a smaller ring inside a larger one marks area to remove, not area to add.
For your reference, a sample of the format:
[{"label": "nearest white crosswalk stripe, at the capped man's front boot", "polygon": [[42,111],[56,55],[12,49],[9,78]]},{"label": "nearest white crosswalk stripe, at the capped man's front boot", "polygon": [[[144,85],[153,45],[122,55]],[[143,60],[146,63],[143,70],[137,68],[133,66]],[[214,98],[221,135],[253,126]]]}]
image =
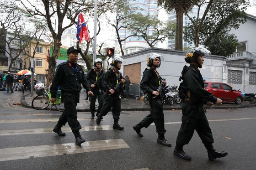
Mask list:
[{"label": "nearest white crosswalk stripe, at the capped man's front boot", "polygon": [[21,160],[56,155],[69,155],[100,150],[129,148],[123,139],[89,141],[78,146],[74,143],[50,144],[0,149],[0,161]]}]

